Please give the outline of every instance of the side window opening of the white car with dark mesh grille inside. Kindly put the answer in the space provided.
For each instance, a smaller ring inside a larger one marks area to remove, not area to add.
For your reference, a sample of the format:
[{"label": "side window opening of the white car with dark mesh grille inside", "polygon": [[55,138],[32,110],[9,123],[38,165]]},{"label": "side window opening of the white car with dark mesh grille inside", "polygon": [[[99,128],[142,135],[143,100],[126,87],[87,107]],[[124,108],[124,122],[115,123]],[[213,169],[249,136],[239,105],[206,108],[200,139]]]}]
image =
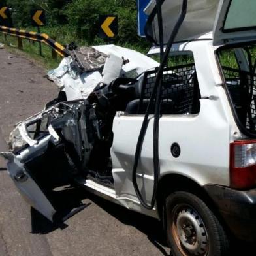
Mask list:
[{"label": "side window opening of the white car with dark mesh grille inside", "polygon": [[[155,58],[155,57],[154,57]],[[182,54],[170,57],[170,67],[163,72],[161,91],[162,115],[190,115],[200,111],[200,90],[193,54]],[[127,105],[127,114],[145,114],[152,95],[157,71],[145,72],[143,80],[136,84],[137,99]],[[154,113],[155,106],[150,109]]]}]

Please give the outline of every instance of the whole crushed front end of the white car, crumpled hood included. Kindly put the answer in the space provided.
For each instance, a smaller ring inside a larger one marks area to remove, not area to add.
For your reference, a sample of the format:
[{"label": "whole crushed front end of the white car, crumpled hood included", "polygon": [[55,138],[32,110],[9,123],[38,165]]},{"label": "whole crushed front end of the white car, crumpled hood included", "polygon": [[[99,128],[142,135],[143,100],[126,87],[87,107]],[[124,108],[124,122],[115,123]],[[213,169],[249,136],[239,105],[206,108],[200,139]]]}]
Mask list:
[{"label": "whole crushed front end of the white car, crumpled hood included", "polygon": [[48,72],[60,89],[59,97],[18,123],[10,135],[10,150],[19,155],[47,138],[43,150],[24,163],[38,184],[52,189],[61,180],[69,183],[82,176],[111,187],[114,117],[136,99],[135,78],[141,80],[140,74],[158,63],[118,46],[69,48],[71,56]]}]

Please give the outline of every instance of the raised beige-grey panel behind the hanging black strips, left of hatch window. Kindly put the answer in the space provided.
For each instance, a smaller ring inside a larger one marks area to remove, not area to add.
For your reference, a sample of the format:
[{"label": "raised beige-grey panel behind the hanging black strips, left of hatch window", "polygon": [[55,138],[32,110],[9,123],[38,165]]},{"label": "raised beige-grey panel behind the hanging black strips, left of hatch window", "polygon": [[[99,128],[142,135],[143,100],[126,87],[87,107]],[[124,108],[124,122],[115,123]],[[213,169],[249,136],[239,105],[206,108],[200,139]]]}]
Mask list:
[{"label": "raised beige-grey panel behind the hanging black strips, left of hatch window", "polygon": [[[195,39],[199,37],[199,35],[211,32],[214,27],[218,4],[219,0],[188,0],[187,14],[176,36],[176,42]],[[155,0],[152,0],[144,11],[149,15],[145,35],[150,42],[159,44],[159,27]],[[182,1],[163,1],[164,44],[167,44],[181,11]]]}]

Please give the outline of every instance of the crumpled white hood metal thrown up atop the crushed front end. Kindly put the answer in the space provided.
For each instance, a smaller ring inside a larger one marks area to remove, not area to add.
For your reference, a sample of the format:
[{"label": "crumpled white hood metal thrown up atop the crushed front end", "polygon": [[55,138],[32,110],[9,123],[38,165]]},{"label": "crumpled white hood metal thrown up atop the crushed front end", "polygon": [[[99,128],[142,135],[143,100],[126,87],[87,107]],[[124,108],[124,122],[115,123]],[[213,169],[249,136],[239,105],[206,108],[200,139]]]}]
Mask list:
[{"label": "crumpled white hood metal thrown up atop the crushed front end", "polygon": [[110,84],[120,76],[137,78],[159,66],[150,57],[120,46],[82,47],[77,52],[84,66],[82,74],[74,69],[72,57],[65,57],[57,69],[48,72],[48,78],[65,91],[68,101],[87,99],[98,85]]}]

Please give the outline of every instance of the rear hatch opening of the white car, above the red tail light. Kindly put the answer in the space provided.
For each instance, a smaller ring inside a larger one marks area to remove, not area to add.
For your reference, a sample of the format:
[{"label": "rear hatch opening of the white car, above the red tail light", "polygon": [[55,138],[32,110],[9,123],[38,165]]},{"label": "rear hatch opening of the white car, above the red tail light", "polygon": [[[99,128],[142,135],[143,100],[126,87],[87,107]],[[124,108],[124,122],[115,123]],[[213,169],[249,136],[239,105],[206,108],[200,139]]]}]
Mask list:
[{"label": "rear hatch opening of the white car, above the red tail light", "polygon": [[256,44],[218,52],[238,124],[256,136]]}]

